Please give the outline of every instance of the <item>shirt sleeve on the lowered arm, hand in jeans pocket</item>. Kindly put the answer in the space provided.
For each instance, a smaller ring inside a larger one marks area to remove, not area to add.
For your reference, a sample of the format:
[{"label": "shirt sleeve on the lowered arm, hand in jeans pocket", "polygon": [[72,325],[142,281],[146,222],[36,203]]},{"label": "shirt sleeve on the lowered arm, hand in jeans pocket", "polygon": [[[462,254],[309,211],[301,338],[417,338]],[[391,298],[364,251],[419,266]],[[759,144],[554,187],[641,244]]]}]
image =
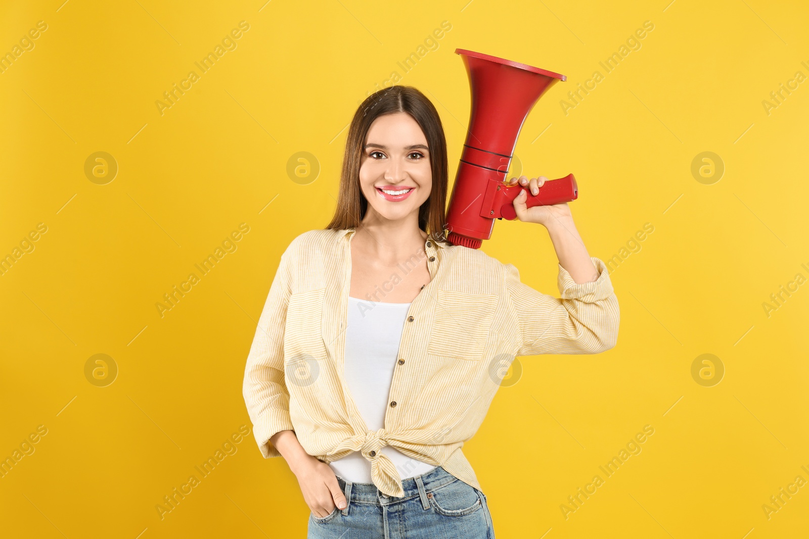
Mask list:
[{"label": "shirt sleeve on the lowered arm, hand in jeans pocket", "polygon": [[253,435],[265,458],[281,456],[269,443],[271,436],[294,430],[290,421],[290,394],[284,381],[284,327],[290,300],[290,271],[290,248],[287,248],[269,288],[244,368],[244,402],[253,424]]}]

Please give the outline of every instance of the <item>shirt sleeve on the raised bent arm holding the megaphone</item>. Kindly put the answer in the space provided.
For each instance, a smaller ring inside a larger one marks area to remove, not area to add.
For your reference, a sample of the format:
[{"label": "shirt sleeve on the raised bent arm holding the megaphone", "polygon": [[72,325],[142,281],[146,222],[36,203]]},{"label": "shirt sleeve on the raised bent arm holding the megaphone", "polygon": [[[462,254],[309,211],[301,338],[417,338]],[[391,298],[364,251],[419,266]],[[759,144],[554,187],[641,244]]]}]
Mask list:
[{"label": "shirt sleeve on the raised bent arm holding the megaphone", "polygon": [[604,262],[591,260],[599,276],[587,283],[576,283],[557,264],[561,298],[521,282],[514,264],[505,264],[506,294],[519,326],[517,356],[595,354],[616,345],[621,318],[618,298]]}]

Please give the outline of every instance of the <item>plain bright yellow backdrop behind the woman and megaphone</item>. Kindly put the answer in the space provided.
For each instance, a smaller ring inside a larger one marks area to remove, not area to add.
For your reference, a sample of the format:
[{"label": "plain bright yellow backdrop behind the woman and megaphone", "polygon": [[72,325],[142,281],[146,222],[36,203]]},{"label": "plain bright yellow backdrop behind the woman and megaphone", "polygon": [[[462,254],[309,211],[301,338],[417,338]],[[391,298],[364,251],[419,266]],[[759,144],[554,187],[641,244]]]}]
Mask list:
[{"label": "plain bright yellow backdrop behind the woman and megaphone", "polygon": [[[807,15],[760,0],[3,2],[0,52],[48,25],[0,74],[0,255],[48,227],[0,276],[0,457],[47,428],[0,478],[3,535],[304,536],[298,482],[252,432],[163,520],[155,506],[250,424],[244,363],[279,255],[328,222],[346,124],[393,71],[438,108],[454,181],[469,113],[455,48],[568,77],[516,155],[529,177],[576,175],[591,255],[654,226],[611,275],[617,346],[519,358],[519,381],[464,447],[498,538],[807,533],[809,486],[769,519],[762,509],[809,480],[809,284],[769,317],[762,306],[809,277],[809,82],[762,104],[809,75]],[[242,20],[237,48],[161,115],[155,101]],[[405,74],[397,61],[445,20]],[[599,61],[647,20],[642,47],[606,73]],[[595,70],[604,80],[565,115],[561,99]],[[84,173],[98,151],[119,168],[105,185]],[[315,181],[287,175],[300,151],[316,156]],[[712,184],[691,173],[705,151],[725,166]],[[238,249],[161,318],[155,303],[243,222]],[[482,248],[558,294],[540,225],[498,221]],[[85,377],[99,353],[118,368],[106,387]],[[692,377],[704,353],[724,365],[718,385]],[[642,453],[565,519],[561,504],[647,424]]]}]

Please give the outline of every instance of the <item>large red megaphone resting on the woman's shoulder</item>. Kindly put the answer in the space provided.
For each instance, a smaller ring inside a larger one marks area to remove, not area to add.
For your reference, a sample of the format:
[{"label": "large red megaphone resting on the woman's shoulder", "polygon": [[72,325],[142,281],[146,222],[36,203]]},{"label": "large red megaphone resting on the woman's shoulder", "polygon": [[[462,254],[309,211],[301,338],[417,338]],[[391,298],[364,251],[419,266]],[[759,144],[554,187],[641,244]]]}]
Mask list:
[{"label": "large red megaphone resting on the woman's shoulder", "polygon": [[[565,75],[515,61],[456,48],[466,66],[472,113],[455,185],[447,209],[447,240],[478,249],[492,235],[494,219],[516,217],[513,200],[524,187],[504,180],[528,112]],[[561,204],[578,198],[572,174],[546,181],[527,207]]]}]

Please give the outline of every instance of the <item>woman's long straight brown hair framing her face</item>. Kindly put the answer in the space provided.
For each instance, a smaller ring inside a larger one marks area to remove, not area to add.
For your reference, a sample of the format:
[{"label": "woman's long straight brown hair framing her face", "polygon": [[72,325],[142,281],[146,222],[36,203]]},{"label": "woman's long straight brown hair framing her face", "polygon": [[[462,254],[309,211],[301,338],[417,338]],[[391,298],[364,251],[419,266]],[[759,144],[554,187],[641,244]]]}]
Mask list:
[{"label": "woman's long straight brown hair framing her face", "polygon": [[[391,86],[369,95],[354,113],[345,141],[340,193],[332,221],[326,229],[358,227],[368,209],[368,200],[359,187],[362,145],[371,123],[383,114],[407,112],[413,116],[427,139],[433,184],[430,197],[418,209],[418,226],[438,242],[447,242],[447,140],[441,118],[433,103],[413,86]],[[448,242],[447,242],[448,243]]]}]

